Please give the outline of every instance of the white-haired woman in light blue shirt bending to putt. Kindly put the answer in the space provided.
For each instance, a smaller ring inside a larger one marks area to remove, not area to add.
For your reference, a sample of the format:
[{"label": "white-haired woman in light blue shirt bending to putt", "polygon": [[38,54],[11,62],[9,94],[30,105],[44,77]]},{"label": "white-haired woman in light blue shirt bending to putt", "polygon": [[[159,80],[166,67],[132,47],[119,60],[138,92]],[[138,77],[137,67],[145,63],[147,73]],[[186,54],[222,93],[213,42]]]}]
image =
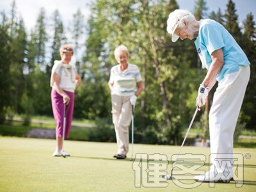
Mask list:
[{"label": "white-haired woman in light blue shirt bending to putt", "polygon": [[172,34],[172,42],[195,39],[196,51],[207,68],[196,98],[199,109],[218,81],[209,112],[212,166],[209,172],[196,175],[195,180],[230,182],[236,179],[232,170],[233,136],[250,78],[250,61],[227,29],[215,20],[196,20],[187,10],[175,10],[167,20],[167,31]]}]

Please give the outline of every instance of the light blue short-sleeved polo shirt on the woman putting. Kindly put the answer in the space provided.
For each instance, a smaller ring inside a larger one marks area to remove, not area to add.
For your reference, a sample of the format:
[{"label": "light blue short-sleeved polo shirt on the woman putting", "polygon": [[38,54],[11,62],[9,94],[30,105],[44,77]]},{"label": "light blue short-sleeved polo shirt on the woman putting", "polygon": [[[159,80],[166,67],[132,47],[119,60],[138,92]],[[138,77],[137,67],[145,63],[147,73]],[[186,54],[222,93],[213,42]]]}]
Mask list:
[{"label": "light blue short-sleeved polo shirt on the woman putting", "polygon": [[250,65],[241,47],[220,23],[211,19],[202,19],[199,25],[195,45],[202,65],[209,70],[212,52],[218,49],[223,51],[224,65],[216,76],[217,81],[220,82],[225,74],[238,71],[239,65]]}]

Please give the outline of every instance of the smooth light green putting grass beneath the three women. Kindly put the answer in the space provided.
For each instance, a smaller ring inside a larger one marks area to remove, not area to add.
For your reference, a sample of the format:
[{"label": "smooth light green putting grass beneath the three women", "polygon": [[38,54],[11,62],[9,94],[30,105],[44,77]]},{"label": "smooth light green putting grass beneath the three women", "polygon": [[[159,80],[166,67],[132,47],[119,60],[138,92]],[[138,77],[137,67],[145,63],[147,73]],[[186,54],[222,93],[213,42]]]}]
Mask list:
[{"label": "smooth light green putting grass beneath the three women", "polygon": [[[147,188],[142,184],[136,188],[134,170],[139,167],[129,161],[131,144],[127,159],[120,160],[112,157],[116,154],[116,143],[67,140],[64,148],[71,156],[66,158],[52,157],[55,146],[55,140],[0,136],[0,191],[256,191],[254,148],[234,148],[234,153],[244,157],[241,188],[237,188],[232,181],[229,184],[215,184],[213,188],[203,183],[193,189],[184,189],[172,180],[167,181],[166,188]],[[133,157],[139,153],[161,154],[170,160],[172,155],[179,152],[179,148],[134,144]],[[185,146],[180,154],[186,153],[207,157],[201,169],[209,169],[210,148]],[[171,168],[170,161],[168,173]]]}]

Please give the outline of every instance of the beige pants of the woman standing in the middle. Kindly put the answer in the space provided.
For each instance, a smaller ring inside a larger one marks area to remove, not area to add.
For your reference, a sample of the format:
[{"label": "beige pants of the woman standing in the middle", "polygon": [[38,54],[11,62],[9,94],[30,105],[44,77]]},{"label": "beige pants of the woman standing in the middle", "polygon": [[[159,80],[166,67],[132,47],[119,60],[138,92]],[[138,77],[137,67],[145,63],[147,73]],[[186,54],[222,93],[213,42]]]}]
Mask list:
[{"label": "beige pants of the woman standing in the middle", "polygon": [[115,125],[118,154],[126,155],[129,149],[129,126],[132,119],[131,96],[111,95],[112,117]]}]

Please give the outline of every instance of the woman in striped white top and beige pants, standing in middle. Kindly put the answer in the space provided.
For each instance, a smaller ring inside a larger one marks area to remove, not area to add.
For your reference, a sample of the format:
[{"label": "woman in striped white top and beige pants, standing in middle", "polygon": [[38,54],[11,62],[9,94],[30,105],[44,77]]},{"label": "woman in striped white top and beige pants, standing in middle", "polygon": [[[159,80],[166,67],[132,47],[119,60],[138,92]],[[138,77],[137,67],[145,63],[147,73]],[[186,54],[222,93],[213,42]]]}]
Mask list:
[{"label": "woman in striped white top and beige pants, standing in middle", "polygon": [[115,125],[116,142],[118,145],[116,159],[125,159],[129,149],[129,125],[132,119],[132,106],[143,90],[140,69],[128,63],[129,51],[124,45],[115,49],[115,58],[119,63],[111,68],[109,88],[113,124]]}]

